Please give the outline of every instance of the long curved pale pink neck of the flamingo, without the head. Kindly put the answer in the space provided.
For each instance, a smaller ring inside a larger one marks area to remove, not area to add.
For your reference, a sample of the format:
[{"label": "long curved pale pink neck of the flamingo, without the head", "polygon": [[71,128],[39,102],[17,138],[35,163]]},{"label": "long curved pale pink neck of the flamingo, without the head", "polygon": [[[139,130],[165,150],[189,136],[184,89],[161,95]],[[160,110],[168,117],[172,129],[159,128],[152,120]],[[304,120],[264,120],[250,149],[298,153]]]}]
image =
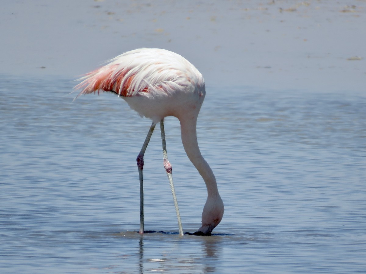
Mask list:
[{"label": "long curved pale pink neck of the flamingo, without the head", "polygon": [[188,158],[205,181],[208,196],[219,195],[215,175],[199,151],[196,125],[197,117],[180,120],[183,147]]}]

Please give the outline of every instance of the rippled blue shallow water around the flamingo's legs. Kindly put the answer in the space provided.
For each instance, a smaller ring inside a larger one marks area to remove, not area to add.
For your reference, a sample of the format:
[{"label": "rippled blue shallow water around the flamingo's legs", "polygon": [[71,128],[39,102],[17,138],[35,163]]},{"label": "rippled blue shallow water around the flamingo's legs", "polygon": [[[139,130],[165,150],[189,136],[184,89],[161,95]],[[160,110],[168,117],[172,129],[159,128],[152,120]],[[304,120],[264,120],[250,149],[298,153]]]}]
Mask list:
[{"label": "rippled blue shallow water around the flamingo's legs", "polygon": [[[350,92],[208,87],[201,152],[225,203],[213,236],[178,235],[159,130],[70,79],[1,76],[1,273],[366,272],[366,99]],[[184,232],[206,190],[165,121]]]}]

